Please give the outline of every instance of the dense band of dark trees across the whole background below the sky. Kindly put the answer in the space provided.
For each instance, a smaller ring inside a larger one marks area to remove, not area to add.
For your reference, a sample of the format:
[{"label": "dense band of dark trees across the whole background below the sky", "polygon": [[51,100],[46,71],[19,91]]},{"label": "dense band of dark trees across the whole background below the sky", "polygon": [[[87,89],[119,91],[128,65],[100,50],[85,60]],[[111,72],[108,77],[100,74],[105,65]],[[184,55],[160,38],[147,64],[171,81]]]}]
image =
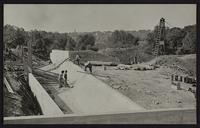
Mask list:
[{"label": "dense band of dark trees across the whole background below the sky", "polygon": [[[138,47],[145,53],[151,54],[155,43],[155,31],[150,32],[149,30],[58,33],[25,31],[23,28],[5,25],[3,34],[4,44],[8,48],[16,48],[17,45],[27,45],[27,42],[31,42],[33,53],[44,57],[48,57],[52,49],[98,51],[102,48]],[[195,53],[196,25],[186,26],[183,29],[167,28],[165,42],[167,54]]]}]

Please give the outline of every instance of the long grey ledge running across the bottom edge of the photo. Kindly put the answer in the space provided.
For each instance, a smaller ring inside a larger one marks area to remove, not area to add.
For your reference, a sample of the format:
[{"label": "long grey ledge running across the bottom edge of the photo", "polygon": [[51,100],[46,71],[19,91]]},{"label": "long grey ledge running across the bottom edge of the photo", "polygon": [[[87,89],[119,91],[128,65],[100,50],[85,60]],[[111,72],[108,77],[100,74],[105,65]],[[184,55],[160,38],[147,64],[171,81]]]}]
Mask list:
[{"label": "long grey ledge running across the bottom edge of the photo", "polygon": [[4,124],[196,124],[196,109],[148,110],[102,115],[6,117]]}]

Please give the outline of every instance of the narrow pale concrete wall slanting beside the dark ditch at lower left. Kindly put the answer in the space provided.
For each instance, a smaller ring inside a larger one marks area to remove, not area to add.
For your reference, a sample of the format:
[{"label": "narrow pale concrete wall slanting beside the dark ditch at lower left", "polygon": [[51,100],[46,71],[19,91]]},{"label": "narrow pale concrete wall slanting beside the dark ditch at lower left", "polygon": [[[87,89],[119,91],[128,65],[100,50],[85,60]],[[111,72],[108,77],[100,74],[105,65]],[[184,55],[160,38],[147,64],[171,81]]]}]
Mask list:
[{"label": "narrow pale concrete wall slanting beside the dark ditch at lower left", "polygon": [[63,112],[60,110],[58,105],[51,99],[45,89],[31,73],[29,73],[29,86],[33,94],[36,96],[44,115],[63,115]]}]

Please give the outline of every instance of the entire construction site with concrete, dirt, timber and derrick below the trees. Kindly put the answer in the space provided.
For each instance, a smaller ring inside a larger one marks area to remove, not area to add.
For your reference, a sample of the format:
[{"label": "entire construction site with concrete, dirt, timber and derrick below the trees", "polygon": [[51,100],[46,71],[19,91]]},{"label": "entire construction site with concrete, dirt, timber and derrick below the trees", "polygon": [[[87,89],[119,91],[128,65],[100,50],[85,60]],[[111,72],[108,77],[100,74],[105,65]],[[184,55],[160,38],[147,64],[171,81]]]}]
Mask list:
[{"label": "entire construction site with concrete, dirt, timber and derrick below the trees", "polygon": [[[196,54],[166,55],[165,27],[161,18],[153,57],[131,64],[57,49],[42,60],[31,42],[5,50],[4,124],[196,124]],[[59,88],[63,70],[73,88]]]}]

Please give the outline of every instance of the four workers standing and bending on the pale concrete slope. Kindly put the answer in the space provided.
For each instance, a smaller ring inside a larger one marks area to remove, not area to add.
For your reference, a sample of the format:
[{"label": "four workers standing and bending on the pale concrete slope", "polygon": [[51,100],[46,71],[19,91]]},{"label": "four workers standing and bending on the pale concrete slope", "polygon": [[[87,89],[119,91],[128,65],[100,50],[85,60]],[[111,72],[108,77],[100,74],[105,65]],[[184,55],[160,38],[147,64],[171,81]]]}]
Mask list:
[{"label": "four workers standing and bending on the pale concrete slope", "polygon": [[[75,57],[75,62],[77,63],[77,65],[80,65],[80,59],[81,57],[77,54],[76,57]],[[92,64],[90,61],[86,62],[84,64],[85,66],[85,71],[87,70],[87,68],[89,68],[90,70],[90,73],[92,73]],[[69,87],[69,88],[72,88],[73,86],[70,86],[68,84],[68,79],[67,79],[67,70],[62,70],[61,71],[61,74],[59,75],[58,77],[58,81],[59,81],[59,88],[62,88],[62,87]]]}]

